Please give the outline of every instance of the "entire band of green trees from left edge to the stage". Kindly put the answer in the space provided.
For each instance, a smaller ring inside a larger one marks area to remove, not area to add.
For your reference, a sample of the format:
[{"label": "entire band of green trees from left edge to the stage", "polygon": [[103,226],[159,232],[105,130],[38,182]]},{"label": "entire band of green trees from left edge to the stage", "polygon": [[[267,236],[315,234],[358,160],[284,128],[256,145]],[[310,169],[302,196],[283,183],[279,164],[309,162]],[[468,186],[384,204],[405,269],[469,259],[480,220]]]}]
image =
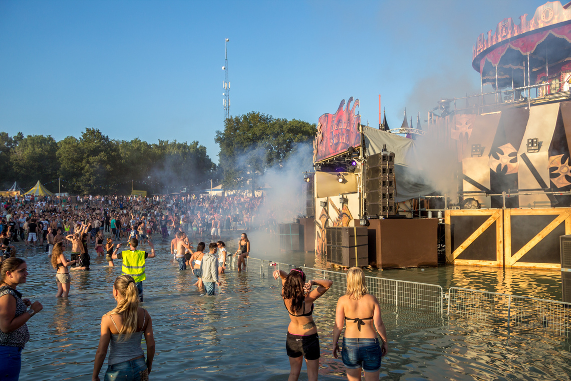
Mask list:
[{"label": "entire band of green trees from left edge to the stage", "polygon": [[[212,179],[224,189],[255,190],[268,169],[282,167],[316,132],[315,123],[255,111],[228,118],[214,139],[220,146],[218,166],[196,141],[119,141],[98,129],[59,142],[51,135],[0,132],[0,184],[7,189],[18,181],[28,190],[39,180],[57,192],[59,178],[62,192],[70,194],[129,194],[134,180],[135,189],[152,194],[182,190],[175,186],[206,189]],[[311,167],[311,155],[304,159]]]}]

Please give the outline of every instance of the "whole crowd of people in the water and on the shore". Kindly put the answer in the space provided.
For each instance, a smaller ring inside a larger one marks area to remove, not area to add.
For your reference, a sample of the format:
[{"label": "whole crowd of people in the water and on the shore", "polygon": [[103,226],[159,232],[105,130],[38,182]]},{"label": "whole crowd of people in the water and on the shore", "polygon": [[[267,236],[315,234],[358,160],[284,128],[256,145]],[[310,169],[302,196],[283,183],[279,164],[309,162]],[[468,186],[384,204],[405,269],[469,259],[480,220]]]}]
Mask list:
[{"label": "whole crowd of people in the water and on the shore", "polygon": [[[152,369],[155,339],[152,319],[140,307],[143,302],[143,281],[146,279],[146,259],[155,257],[152,236],[171,239],[171,255],[179,270],[190,267],[197,278],[195,283],[206,295],[215,295],[220,286],[219,274],[226,271],[227,259],[235,255],[238,271],[242,271],[250,254],[250,240],[246,232],[240,235],[238,250],[226,251],[220,238],[222,228],[235,230],[251,228],[252,218],[262,199],[227,198],[200,199],[191,196],[147,198],[95,197],[75,200],[3,199],[0,223],[0,379],[18,380],[21,351],[30,335],[27,320],[42,310],[42,304],[22,298],[18,284],[25,283],[27,265],[15,256],[17,240],[26,246],[46,244],[46,254],[56,270],[58,297],[70,292],[72,270],[90,269],[90,245],[95,253],[105,256],[109,266],[122,260],[122,275],[113,285],[117,306],[103,315],[99,346],[94,361],[93,380],[108,354],[105,379],[147,380]],[[229,217],[229,223],[222,216]],[[233,216],[238,216],[234,220]],[[235,225],[233,225],[235,223]],[[240,225],[238,224],[240,223]],[[196,231],[194,227],[196,226]],[[210,229],[211,243],[199,242],[194,248],[192,238],[204,237]],[[105,238],[104,232],[109,232]],[[121,250],[123,242],[127,250]],[[139,243],[148,245],[150,252],[139,250]],[[70,247],[70,259],[65,250]],[[299,378],[303,359],[308,379],[317,380],[320,346],[317,326],[313,322],[313,308],[317,298],[332,286],[331,280],[306,279],[301,268],[291,272],[275,271],[275,279],[282,280],[282,298],[291,322],[286,338],[286,352],[291,371],[290,381]],[[313,288],[313,286],[317,286]],[[30,307],[30,308],[27,308]],[[352,316],[352,317],[349,317]],[[387,353],[387,334],[380,314],[379,302],[368,294],[363,271],[351,268],[347,274],[347,294],[337,303],[333,328],[332,354],[337,358],[338,340],[343,330],[341,358],[349,381],[359,380],[361,370],[365,380],[379,379],[381,356]],[[380,340],[379,340],[380,335]],[[141,347],[145,339],[146,358]]]}]

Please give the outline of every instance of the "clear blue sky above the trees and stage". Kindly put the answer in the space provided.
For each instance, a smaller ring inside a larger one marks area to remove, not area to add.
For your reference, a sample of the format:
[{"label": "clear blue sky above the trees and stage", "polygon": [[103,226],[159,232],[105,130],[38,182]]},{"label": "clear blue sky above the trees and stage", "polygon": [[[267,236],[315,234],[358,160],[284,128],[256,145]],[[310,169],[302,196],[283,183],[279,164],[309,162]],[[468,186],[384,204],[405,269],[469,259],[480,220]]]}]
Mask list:
[{"label": "clear blue sky above the trees and stage", "polygon": [[0,131],[198,141],[218,162],[225,38],[231,115],[316,123],[354,97],[377,125],[380,94],[395,128],[479,93],[478,35],[543,3],[0,0]]}]

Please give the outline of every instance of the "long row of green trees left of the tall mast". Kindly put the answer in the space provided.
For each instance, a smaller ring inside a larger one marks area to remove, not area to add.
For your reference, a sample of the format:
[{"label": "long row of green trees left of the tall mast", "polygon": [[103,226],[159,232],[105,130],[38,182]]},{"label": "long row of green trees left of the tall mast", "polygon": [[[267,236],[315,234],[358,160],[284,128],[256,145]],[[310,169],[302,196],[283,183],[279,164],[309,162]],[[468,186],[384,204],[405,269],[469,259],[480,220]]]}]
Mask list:
[{"label": "long row of green trees left of the tall mast", "polygon": [[0,132],[0,174],[3,189],[18,181],[28,190],[39,180],[55,181],[46,187],[58,192],[60,178],[62,192],[70,194],[129,194],[132,180],[147,194],[202,183],[187,189],[200,190],[210,187],[210,179],[219,181],[218,167],[196,141],[118,141],[98,129],[59,142],[51,135]]}]

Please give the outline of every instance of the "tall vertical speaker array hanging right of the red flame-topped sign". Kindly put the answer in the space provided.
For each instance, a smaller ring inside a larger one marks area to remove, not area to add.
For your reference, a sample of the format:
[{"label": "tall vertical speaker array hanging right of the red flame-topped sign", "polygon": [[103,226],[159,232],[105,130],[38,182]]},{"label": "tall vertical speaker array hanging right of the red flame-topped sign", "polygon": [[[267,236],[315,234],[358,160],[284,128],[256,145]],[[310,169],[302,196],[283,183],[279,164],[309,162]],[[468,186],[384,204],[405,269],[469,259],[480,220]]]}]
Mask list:
[{"label": "tall vertical speaker array hanging right of the red flame-topped sign", "polygon": [[367,158],[365,192],[367,192],[367,215],[396,214],[395,153],[383,150]]}]

